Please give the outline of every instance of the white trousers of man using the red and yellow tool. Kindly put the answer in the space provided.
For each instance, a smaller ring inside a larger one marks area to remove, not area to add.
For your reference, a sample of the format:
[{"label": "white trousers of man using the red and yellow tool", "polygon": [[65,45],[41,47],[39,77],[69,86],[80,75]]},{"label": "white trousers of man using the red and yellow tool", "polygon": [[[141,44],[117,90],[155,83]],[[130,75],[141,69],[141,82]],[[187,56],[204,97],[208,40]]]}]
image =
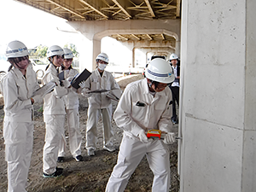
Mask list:
[{"label": "white trousers of man using the red and yellow tool", "polygon": [[[123,192],[144,155],[154,173],[152,192],[168,192],[170,189],[170,154],[160,140],[142,143],[137,138],[124,135],[119,148],[117,164],[108,179],[106,192]],[[145,172],[147,172],[145,170]]]}]

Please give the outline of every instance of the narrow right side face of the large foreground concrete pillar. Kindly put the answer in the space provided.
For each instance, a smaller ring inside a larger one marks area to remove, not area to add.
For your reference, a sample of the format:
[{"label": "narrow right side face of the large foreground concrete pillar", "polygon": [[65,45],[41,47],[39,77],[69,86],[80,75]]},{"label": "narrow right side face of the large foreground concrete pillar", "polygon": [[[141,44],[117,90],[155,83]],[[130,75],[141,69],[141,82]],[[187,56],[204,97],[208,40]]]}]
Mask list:
[{"label": "narrow right side face of the large foreground concrete pillar", "polygon": [[255,1],[245,1],[245,122],[242,191],[256,191],[256,26]]}]

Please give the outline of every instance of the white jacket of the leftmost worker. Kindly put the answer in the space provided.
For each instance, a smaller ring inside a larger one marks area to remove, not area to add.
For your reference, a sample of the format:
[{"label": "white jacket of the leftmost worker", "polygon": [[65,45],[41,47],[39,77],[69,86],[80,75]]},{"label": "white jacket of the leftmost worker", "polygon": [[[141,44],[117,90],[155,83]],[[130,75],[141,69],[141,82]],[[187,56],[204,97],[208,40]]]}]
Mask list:
[{"label": "white jacket of the leftmost worker", "polygon": [[4,120],[31,122],[33,110],[31,97],[38,88],[37,75],[31,64],[26,68],[26,78],[18,68],[12,68],[1,81]]}]

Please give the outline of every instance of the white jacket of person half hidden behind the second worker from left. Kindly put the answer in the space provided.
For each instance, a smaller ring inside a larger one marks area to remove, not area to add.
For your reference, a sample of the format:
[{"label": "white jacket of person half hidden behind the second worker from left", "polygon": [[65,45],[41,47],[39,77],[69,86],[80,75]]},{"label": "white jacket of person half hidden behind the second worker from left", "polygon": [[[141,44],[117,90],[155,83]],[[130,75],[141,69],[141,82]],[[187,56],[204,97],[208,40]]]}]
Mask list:
[{"label": "white jacket of person half hidden behind the second worker from left", "polygon": [[[61,70],[60,70],[61,73]],[[64,70],[64,78],[73,78],[78,74],[78,70],[71,68],[70,70]],[[79,96],[77,90],[72,86],[67,89],[67,95],[63,96],[65,106],[67,109],[79,108]]]}]

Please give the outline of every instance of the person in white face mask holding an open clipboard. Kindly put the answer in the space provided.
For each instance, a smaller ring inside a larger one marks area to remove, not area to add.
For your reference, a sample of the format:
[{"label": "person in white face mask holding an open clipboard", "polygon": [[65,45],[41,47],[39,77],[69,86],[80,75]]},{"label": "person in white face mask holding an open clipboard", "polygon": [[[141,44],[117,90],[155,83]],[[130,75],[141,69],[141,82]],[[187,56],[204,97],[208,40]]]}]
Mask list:
[{"label": "person in white face mask holding an open clipboard", "polygon": [[86,144],[85,148],[90,156],[95,155],[97,140],[97,122],[99,115],[102,114],[103,123],[103,149],[113,152],[111,126],[112,102],[107,96],[108,92],[119,91],[119,84],[116,83],[113,75],[105,71],[108,65],[108,55],[101,53],[96,56],[96,70],[94,70],[86,81],[82,81],[79,86],[82,88],[83,96],[88,97],[88,119],[86,125]]}]

